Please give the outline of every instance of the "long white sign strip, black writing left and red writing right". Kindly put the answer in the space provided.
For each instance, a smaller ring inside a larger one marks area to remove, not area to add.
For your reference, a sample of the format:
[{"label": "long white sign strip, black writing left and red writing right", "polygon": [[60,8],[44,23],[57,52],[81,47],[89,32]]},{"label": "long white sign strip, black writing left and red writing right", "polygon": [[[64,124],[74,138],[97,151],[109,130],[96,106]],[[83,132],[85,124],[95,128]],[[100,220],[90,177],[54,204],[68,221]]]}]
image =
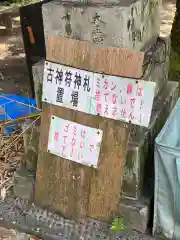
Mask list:
[{"label": "long white sign strip, black writing left and red writing right", "polygon": [[155,86],[45,62],[42,101],[148,127]]}]

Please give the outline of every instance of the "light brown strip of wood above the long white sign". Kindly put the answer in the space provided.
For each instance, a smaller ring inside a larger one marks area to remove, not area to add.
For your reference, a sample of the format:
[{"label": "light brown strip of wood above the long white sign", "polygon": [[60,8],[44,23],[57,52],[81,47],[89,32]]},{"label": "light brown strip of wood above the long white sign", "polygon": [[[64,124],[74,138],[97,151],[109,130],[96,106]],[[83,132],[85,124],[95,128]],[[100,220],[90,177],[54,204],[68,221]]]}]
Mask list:
[{"label": "light brown strip of wood above the long white sign", "polygon": [[50,36],[46,59],[93,72],[139,78],[144,53],[123,48],[99,47],[86,41]]}]

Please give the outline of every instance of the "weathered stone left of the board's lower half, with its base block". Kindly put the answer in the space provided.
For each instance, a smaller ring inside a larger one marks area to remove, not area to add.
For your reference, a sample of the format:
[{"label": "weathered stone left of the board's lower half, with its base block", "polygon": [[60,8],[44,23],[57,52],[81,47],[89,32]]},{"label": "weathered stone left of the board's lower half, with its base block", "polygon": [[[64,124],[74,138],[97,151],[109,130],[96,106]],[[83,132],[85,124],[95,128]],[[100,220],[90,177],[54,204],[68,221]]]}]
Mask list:
[{"label": "weathered stone left of the board's lower half, with its base block", "polygon": [[24,161],[14,174],[13,192],[16,196],[33,201],[36,165],[38,158],[40,122],[34,124],[34,120],[26,120],[22,124],[24,139]]}]

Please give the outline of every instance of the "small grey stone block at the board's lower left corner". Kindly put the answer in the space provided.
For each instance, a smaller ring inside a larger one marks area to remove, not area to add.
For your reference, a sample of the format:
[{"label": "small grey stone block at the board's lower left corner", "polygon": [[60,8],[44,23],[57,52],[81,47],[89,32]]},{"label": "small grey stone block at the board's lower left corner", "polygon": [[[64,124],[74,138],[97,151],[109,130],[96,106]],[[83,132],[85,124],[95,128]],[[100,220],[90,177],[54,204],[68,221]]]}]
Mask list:
[{"label": "small grey stone block at the board's lower left corner", "polygon": [[24,200],[34,200],[35,174],[20,167],[14,173],[13,193]]}]

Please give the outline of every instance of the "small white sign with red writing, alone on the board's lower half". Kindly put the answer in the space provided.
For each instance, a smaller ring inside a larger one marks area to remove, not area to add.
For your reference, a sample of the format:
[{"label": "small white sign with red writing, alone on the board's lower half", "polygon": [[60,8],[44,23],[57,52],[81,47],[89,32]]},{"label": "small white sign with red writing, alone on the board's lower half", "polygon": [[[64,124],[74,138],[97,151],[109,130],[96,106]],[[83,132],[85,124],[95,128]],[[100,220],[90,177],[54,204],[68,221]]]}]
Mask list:
[{"label": "small white sign with red writing, alone on the board's lower half", "polygon": [[97,168],[103,131],[52,116],[48,151]]}]

